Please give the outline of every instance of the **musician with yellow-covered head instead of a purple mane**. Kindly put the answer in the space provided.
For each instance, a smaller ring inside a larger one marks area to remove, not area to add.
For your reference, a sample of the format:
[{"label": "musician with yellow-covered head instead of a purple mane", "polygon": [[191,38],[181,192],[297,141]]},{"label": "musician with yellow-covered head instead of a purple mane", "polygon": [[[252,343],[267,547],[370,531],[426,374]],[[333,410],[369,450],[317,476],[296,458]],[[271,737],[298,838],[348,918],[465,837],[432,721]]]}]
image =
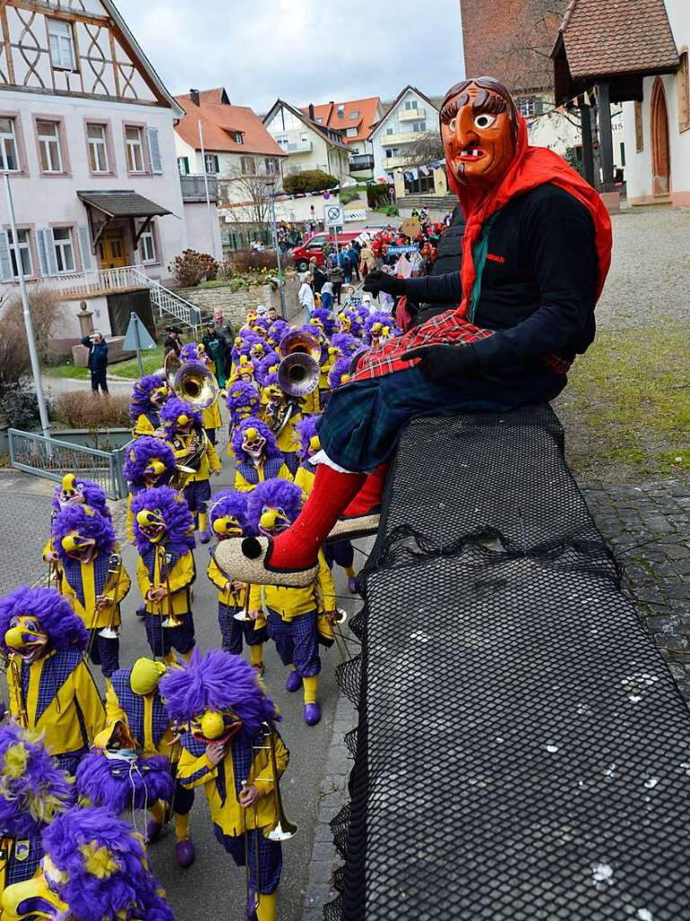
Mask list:
[{"label": "musician with yellow-covered head instead of a purple mane", "polygon": [[[177,729],[167,717],[158,684],[166,673],[162,662],[137,659],[131,669],[121,669],[112,676],[106,696],[109,726],[125,723],[137,749],[147,758],[165,756],[167,769],[177,778],[180,748]],[[167,797],[150,797],[151,819],[146,826],[149,843],[155,841],[166,823]],[[172,814],[175,818],[175,858],[178,867],[190,867],[196,851],[190,838],[190,811],[194,791],[175,780]]]}]

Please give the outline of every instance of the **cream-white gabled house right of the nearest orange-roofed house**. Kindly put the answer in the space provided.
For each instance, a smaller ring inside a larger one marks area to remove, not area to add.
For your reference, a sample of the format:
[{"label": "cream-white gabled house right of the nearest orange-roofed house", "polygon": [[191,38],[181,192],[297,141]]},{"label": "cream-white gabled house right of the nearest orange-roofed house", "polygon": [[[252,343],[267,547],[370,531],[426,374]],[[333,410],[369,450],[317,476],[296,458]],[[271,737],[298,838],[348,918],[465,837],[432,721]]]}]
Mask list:
[{"label": "cream-white gabled house right of the nearest orange-roofed house", "polygon": [[282,164],[283,176],[322,169],[339,181],[350,178],[348,147],[339,132],[317,124],[308,115],[288,102],[277,99],[264,116],[263,123],[287,159]]}]

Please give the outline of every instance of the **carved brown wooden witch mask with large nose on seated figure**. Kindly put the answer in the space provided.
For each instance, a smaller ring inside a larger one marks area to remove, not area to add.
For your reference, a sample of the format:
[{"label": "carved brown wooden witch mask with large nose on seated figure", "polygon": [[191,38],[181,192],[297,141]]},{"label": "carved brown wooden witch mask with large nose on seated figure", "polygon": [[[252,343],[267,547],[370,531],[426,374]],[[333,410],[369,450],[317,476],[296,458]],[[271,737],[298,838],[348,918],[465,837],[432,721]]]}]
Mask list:
[{"label": "carved brown wooden witch mask with large nose on seated figure", "polygon": [[441,138],[446,169],[461,186],[485,192],[515,156],[517,111],[508,90],[489,76],[463,80],[446,93]]}]

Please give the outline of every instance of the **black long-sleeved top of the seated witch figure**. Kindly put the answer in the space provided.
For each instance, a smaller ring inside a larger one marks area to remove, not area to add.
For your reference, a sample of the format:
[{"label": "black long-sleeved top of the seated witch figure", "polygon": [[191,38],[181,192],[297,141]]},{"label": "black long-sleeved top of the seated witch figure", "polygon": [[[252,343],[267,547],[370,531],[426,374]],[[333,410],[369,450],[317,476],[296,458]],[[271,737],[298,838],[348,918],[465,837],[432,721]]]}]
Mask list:
[{"label": "black long-sleeved top of the seated witch figure", "polygon": [[[485,367],[524,364],[554,353],[583,353],[595,332],[597,256],[592,216],[546,183],[512,199],[489,231],[489,252],[474,318],[498,331],[475,343]],[[456,307],[460,273],[408,278],[408,296]]]}]

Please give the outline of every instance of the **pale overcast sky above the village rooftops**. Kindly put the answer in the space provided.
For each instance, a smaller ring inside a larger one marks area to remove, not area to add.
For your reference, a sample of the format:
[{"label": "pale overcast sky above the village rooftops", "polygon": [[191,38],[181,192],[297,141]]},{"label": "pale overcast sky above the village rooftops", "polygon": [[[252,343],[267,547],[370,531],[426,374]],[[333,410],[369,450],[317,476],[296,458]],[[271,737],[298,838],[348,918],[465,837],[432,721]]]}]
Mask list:
[{"label": "pale overcast sky above the village rooftops", "polygon": [[428,96],[463,76],[459,0],[115,0],[173,94],[224,86],[267,111],[380,96]]}]

